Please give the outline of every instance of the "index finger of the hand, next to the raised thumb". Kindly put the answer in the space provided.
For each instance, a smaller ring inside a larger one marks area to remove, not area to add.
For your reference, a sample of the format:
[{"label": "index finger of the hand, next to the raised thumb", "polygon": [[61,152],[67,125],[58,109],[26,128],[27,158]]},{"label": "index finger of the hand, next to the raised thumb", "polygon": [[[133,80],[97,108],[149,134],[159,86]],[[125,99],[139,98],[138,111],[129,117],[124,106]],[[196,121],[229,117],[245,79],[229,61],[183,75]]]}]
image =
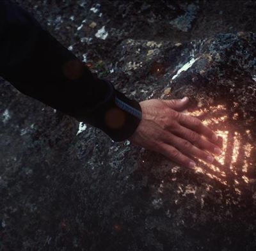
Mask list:
[{"label": "index finger of the hand, next to the raised thumb", "polygon": [[199,134],[204,135],[210,141],[218,141],[218,136],[209,127],[205,126],[202,123],[202,121],[200,121],[200,119],[180,113],[178,121],[180,125],[185,126],[186,128],[189,128]]}]

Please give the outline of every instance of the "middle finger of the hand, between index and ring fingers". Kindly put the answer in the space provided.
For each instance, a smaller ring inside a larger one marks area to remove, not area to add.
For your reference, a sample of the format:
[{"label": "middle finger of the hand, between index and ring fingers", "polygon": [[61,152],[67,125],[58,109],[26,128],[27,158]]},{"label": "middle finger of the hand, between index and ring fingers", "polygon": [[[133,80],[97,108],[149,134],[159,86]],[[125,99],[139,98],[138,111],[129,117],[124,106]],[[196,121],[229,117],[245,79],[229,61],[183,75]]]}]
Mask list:
[{"label": "middle finger of the hand, between index and ring fingers", "polygon": [[177,126],[177,128],[175,129],[175,131],[173,131],[173,133],[179,137],[182,137],[182,139],[185,139],[191,142],[193,145],[197,146],[203,151],[209,151],[216,155],[219,155],[221,153],[221,149],[218,146],[216,146],[210,141],[207,141],[207,139],[204,139],[201,135],[199,135],[195,131],[190,130],[184,126]]}]

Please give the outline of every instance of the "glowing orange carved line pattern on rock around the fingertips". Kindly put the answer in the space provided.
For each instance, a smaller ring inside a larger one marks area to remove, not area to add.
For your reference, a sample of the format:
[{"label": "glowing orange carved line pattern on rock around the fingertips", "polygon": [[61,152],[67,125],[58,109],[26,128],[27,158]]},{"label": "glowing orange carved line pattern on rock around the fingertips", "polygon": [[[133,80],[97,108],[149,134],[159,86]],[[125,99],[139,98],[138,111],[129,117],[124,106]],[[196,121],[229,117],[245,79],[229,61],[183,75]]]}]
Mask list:
[{"label": "glowing orange carved line pattern on rock around the fingertips", "polygon": [[[198,110],[188,113],[191,116],[202,118],[204,125],[209,126],[222,138],[221,154],[214,156],[214,162],[208,164],[198,160],[195,171],[205,174],[211,179],[216,179],[223,185],[228,185],[230,175],[233,177],[234,186],[237,194],[240,194],[239,186],[241,181],[249,183],[247,172],[252,167],[250,160],[253,149],[250,141],[250,130],[239,130],[233,125],[239,118],[237,113],[228,115],[225,105],[211,105],[209,107],[198,107]],[[237,125],[237,124],[235,124]]]}]

